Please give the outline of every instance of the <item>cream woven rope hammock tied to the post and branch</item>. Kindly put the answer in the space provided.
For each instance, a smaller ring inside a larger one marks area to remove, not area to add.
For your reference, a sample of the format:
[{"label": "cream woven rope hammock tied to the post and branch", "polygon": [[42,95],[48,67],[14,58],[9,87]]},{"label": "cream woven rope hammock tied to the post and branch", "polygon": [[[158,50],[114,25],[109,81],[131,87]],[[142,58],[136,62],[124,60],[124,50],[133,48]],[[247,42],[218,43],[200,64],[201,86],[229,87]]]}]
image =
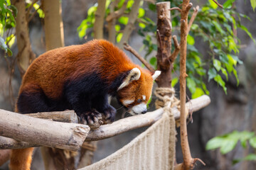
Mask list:
[{"label": "cream woven rope hammock tied to the post and branch", "polygon": [[174,89],[157,88],[155,94],[156,107],[164,106],[161,119],[117,152],[80,170],[174,169],[176,128],[171,106],[178,100]]}]

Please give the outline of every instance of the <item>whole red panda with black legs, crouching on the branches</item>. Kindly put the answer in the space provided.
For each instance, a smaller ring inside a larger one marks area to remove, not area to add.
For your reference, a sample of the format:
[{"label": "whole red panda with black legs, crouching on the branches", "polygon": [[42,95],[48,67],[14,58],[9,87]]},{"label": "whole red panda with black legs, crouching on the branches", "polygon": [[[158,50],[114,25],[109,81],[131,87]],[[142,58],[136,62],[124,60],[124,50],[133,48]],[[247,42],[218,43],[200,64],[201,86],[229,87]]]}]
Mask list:
[{"label": "whole red panda with black legs, crouching on the branches", "polygon": [[[116,96],[130,113],[146,113],[154,74],[134,64],[107,40],[92,40],[50,50],[33,61],[23,77],[18,113],[74,110],[81,122],[93,125],[102,113],[113,121]],[[13,149],[10,169],[30,169],[33,149]],[[23,155],[22,155],[23,153]]]}]

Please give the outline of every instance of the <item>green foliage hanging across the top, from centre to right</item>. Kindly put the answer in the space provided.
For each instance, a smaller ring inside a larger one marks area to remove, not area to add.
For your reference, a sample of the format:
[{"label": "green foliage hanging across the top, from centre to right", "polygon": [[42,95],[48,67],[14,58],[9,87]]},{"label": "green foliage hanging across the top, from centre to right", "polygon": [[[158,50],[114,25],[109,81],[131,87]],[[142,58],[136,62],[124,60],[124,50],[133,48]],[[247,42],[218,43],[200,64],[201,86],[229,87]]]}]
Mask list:
[{"label": "green foliage hanging across the top, from centre to right", "polygon": [[[196,20],[191,26],[191,31],[188,35],[186,67],[188,73],[187,87],[192,94],[192,98],[196,98],[203,94],[209,94],[206,84],[203,81],[205,79],[217,82],[217,84],[223,88],[225,94],[227,94],[226,81],[228,81],[228,77],[234,76],[237,80],[237,84],[239,84],[238,72],[235,67],[237,67],[238,64],[242,64],[242,61],[238,58],[240,40],[234,35],[233,29],[240,28],[241,30],[244,30],[252,40],[254,39],[247,28],[240,23],[242,18],[249,20],[250,18],[230,10],[234,1],[235,0],[225,1],[225,4],[223,4],[225,8],[222,9],[218,8],[212,0],[208,0],[208,3],[198,11]],[[108,8],[110,2],[110,0],[107,1],[105,16],[110,13],[110,9]],[[124,13],[129,13],[133,2],[134,1],[132,0],[128,1]],[[179,6],[181,3],[181,0],[171,1],[171,7]],[[123,4],[124,0],[119,1],[119,4],[114,8],[114,11],[122,8]],[[88,28],[92,28],[95,21],[96,10],[97,5],[92,6],[88,10],[87,18],[82,21],[81,25],[78,27],[80,38],[86,35]],[[145,58],[150,56],[150,59],[148,59],[150,64],[156,67],[156,57],[151,56],[152,52],[157,51],[156,23],[152,21],[151,18],[145,16],[145,11],[149,10],[156,12],[156,5],[148,3],[148,7],[139,8],[139,15],[137,18],[139,29],[137,33],[144,38],[141,50],[146,50]],[[191,10],[190,15],[192,13],[193,11]],[[176,16],[171,19],[173,30],[178,30],[180,27],[179,13],[177,13],[177,11],[171,11],[171,14],[172,16]],[[119,42],[123,35],[122,28],[127,25],[129,18],[127,15],[124,15],[120,16],[117,21],[117,25],[115,26],[117,31],[116,40]],[[208,45],[207,50],[208,56],[210,57],[203,57],[206,53],[204,51],[199,51],[196,48],[198,40],[203,40],[203,43]],[[174,45],[172,45],[172,47],[174,47]],[[174,70],[178,69],[179,56],[174,64]],[[178,79],[174,78],[172,86],[175,86],[175,84],[178,83],[177,80]]]}]

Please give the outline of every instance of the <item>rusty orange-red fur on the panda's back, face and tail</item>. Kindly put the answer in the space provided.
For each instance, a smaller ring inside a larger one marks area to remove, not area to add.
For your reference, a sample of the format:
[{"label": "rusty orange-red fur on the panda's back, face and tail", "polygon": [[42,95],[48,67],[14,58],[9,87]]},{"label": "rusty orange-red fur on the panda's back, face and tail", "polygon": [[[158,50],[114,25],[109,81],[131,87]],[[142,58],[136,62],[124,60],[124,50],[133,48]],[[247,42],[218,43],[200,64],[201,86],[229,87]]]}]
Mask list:
[{"label": "rusty orange-red fur on the panda's back, face and tail", "polygon": [[[137,100],[145,95],[147,102],[153,86],[151,73],[133,64],[122,50],[106,40],[92,40],[84,45],[62,47],[39,56],[24,75],[19,94],[43,89],[48,98],[60,98],[65,81],[97,72],[111,84],[118,74],[134,67],[140,69],[141,77],[118,91],[119,96],[122,96],[119,99]],[[111,72],[107,72],[108,70]],[[135,104],[137,103],[134,102],[133,105]],[[33,148],[13,150],[10,169],[30,169],[32,152]]]}]

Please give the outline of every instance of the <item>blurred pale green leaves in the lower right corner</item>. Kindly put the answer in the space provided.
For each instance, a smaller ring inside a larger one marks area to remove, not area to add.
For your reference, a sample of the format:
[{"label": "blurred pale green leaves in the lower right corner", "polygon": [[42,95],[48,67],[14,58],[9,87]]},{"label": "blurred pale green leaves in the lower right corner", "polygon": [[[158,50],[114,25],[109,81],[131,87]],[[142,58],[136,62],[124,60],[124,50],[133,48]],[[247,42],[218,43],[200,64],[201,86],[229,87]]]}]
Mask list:
[{"label": "blurred pale green leaves in the lower right corner", "polygon": [[[206,150],[213,150],[220,148],[221,154],[227,154],[228,152],[232,151],[240,141],[240,145],[243,148],[247,147],[247,143],[250,144],[251,147],[256,149],[256,136],[255,132],[248,132],[248,131],[233,131],[225,135],[213,137],[209,140],[206,144]],[[252,161],[256,160],[256,154],[248,154],[247,157],[242,159],[235,159],[233,164],[236,164],[241,161]]]}]

